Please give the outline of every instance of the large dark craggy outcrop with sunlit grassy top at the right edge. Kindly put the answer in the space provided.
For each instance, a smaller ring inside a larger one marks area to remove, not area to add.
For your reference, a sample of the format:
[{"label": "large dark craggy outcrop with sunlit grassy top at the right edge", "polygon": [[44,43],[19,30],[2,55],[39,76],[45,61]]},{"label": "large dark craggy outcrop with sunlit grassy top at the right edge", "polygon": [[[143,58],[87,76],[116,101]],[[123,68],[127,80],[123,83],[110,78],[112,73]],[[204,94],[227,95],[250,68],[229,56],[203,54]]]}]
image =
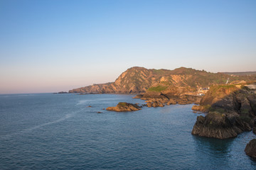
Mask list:
[{"label": "large dark craggy outcrop with sunlit grassy top at the right edge", "polygon": [[206,111],[198,116],[192,134],[226,139],[252,130],[256,116],[256,95],[235,85],[212,86],[194,110]]}]

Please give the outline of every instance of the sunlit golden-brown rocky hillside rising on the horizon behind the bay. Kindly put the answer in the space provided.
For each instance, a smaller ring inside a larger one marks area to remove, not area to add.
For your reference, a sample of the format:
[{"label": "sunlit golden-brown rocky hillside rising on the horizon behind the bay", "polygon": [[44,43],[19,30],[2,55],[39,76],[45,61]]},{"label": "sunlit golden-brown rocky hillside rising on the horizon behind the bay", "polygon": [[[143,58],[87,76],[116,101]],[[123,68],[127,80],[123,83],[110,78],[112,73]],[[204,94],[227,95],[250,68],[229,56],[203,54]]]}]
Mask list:
[{"label": "sunlit golden-brown rocky hillside rising on the horizon behind the bay", "polygon": [[93,84],[70,90],[69,93],[133,94],[146,91],[174,91],[174,89],[178,93],[185,93],[212,84],[225,84],[227,79],[239,81],[249,78],[230,77],[228,74],[210,73],[185,67],[174,70],[132,67],[112,83]]}]

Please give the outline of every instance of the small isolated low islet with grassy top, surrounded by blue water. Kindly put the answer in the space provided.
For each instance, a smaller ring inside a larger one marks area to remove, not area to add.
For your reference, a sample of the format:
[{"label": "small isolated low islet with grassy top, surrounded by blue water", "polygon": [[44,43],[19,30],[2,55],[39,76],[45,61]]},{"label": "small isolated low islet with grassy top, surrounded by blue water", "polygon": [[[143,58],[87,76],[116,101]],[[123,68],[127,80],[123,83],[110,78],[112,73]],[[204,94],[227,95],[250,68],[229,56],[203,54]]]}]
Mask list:
[{"label": "small isolated low islet with grassy top, surrounded by blue water", "polygon": [[141,107],[138,106],[137,104],[132,104],[132,103],[126,103],[126,102],[119,102],[117,106],[115,107],[108,107],[106,108],[107,111],[117,111],[117,112],[122,112],[122,111],[139,111],[141,110]]}]

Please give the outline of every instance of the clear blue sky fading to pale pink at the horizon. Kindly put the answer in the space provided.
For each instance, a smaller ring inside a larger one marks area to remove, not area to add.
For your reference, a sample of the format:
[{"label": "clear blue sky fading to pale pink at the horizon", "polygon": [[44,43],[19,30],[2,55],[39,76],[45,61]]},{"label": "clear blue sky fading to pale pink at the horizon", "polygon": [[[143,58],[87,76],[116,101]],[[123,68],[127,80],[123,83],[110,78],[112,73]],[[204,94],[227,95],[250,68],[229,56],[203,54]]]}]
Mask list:
[{"label": "clear blue sky fading to pale pink at the horizon", "polygon": [[0,0],[0,94],[68,91],[134,66],[256,71],[255,0]]}]

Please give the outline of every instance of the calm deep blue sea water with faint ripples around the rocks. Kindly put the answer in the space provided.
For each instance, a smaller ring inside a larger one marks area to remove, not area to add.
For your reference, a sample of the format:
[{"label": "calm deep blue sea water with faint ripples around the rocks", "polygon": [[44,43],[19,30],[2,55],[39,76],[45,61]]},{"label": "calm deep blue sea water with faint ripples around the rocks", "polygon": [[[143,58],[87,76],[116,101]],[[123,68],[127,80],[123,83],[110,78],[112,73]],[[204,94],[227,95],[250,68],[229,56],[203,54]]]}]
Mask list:
[{"label": "calm deep blue sea water with faint ripples around the rocks", "polygon": [[195,137],[192,105],[102,110],[119,101],[144,103],[131,95],[0,95],[0,169],[256,169],[244,152],[252,132]]}]

